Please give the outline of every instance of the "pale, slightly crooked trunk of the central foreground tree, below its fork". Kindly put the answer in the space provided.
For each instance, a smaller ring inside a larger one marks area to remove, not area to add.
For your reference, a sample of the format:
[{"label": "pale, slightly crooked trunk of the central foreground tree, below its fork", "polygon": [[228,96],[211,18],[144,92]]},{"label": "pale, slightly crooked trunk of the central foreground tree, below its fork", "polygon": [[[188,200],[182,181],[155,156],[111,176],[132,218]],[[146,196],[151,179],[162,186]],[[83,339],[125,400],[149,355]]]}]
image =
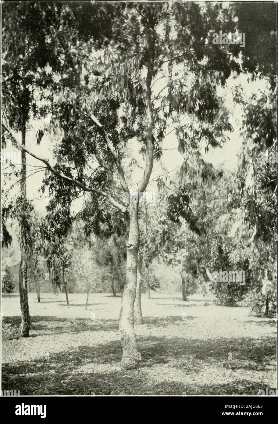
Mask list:
[{"label": "pale, slightly crooked trunk of the central foreground tree, below its fork", "polygon": [[126,255],[126,282],[122,293],[120,335],[122,341],[122,370],[136,368],[138,347],[134,332],[134,301],[136,297],[137,253],[139,246],[138,203],[131,203]]}]

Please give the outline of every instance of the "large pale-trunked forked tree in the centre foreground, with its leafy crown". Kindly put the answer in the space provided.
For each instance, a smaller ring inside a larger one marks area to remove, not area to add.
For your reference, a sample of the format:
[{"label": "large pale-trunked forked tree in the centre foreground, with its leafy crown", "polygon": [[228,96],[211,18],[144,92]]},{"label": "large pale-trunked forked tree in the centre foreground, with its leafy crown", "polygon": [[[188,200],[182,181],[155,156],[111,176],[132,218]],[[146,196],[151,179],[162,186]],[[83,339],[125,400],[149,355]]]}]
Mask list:
[{"label": "large pale-trunked forked tree in the centre foreground, with its leafy crown", "polygon": [[[240,49],[214,45],[212,34],[223,27],[233,32],[236,23],[230,7],[212,3],[63,3],[61,10],[61,22],[54,17],[49,25],[63,71],[52,68],[47,87],[53,92],[50,127],[62,134],[55,165],[23,145],[6,116],[4,125],[18,148],[42,162],[53,190],[92,193],[127,222],[120,334],[122,368],[134,368],[138,201],[170,128],[180,151],[193,156],[203,139],[212,146],[225,142],[230,124],[218,113],[217,86],[239,72],[234,58]],[[125,172],[135,142],[145,161],[141,179]]]}]

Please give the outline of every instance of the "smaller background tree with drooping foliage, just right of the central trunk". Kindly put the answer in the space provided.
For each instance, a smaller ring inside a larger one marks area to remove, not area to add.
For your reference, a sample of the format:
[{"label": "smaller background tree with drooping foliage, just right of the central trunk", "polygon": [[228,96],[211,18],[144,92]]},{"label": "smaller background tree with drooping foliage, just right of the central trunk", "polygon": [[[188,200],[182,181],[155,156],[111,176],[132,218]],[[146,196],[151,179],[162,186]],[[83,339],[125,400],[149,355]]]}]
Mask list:
[{"label": "smaller background tree with drooping foliage, just right of the central trunk", "polygon": [[[173,267],[181,276],[182,300],[197,290],[196,252],[192,241],[200,237],[198,219],[194,216],[188,191],[175,187],[158,197],[156,210],[150,214],[152,229],[148,244],[148,261],[155,257]],[[178,206],[179,204],[179,206]],[[201,214],[200,214],[201,215]],[[186,219],[185,219],[186,218]],[[195,226],[192,226],[194,219]],[[194,228],[194,232],[191,230]],[[194,240],[195,242],[195,240]]]}]

